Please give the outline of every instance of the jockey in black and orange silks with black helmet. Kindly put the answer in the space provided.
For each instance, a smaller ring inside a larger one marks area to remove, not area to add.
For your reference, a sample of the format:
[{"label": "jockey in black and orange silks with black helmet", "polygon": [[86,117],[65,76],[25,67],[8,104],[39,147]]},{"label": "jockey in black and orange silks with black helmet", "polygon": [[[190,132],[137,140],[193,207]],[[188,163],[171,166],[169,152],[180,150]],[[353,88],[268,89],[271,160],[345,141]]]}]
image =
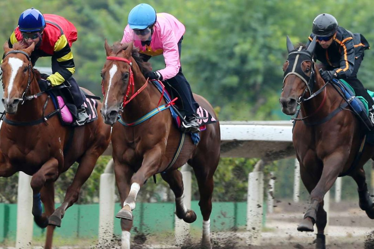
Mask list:
[{"label": "jockey in black and orange silks with black helmet", "polygon": [[359,67],[364,59],[364,51],[370,49],[365,37],[339,27],[334,16],[327,13],[318,15],[314,19],[307,47],[315,36],[317,43],[314,57],[325,67],[325,71],[321,73],[322,78],[326,82],[332,78],[347,81],[357,96],[367,100],[371,109],[374,105],[373,99],[357,78]]}]

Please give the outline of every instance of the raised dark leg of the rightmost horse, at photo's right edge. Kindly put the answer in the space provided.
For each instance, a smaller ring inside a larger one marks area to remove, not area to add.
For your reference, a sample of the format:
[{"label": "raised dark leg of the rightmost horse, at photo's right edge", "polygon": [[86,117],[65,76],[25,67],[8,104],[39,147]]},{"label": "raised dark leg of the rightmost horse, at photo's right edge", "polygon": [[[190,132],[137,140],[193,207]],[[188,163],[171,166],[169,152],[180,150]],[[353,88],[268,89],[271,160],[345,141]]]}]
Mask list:
[{"label": "raised dark leg of the rightmost horse, at photo's right edge", "polygon": [[360,208],[366,212],[370,219],[374,219],[373,200],[368,191],[364,169],[358,169],[355,174],[352,174],[352,178],[356,181],[358,186]]}]

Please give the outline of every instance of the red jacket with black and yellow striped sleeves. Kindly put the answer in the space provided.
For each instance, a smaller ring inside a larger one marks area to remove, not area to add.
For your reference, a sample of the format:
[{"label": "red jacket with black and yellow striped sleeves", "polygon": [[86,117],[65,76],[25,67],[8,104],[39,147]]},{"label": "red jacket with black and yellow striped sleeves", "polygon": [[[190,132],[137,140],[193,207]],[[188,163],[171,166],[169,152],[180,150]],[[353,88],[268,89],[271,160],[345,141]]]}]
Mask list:
[{"label": "red jacket with black and yellow striped sleeves", "polygon": [[[46,27],[43,31],[42,42],[31,53],[31,63],[35,65],[39,57],[52,56],[57,60],[58,70],[47,79],[54,86],[68,80],[75,72],[71,44],[77,40],[77,29],[67,19],[58,15],[44,15]],[[9,38],[9,47],[22,41],[23,37],[17,27]]]}]

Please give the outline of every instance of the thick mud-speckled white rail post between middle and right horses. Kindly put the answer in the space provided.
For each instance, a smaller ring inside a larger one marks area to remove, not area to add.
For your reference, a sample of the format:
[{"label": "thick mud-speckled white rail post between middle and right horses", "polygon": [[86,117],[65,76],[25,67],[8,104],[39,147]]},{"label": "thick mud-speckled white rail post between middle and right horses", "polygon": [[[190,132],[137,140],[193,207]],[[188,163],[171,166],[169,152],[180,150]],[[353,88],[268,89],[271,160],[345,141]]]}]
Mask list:
[{"label": "thick mud-speckled white rail post between middle and right horses", "polygon": [[264,202],[264,173],[260,171],[263,160],[255,165],[253,172],[248,174],[248,196],[247,196],[247,244],[261,244],[261,230]]}]

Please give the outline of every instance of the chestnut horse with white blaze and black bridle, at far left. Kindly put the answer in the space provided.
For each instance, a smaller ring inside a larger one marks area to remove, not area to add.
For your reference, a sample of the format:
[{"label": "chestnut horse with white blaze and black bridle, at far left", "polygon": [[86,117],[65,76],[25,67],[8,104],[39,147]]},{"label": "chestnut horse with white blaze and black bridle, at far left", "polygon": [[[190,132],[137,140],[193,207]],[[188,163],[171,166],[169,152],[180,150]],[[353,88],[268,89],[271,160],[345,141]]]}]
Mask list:
[{"label": "chestnut horse with white blaze and black bridle, at far left", "polygon": [[[78,200],[80,188],[110,142],[110,125],[99,115],[87,125],[71,128],[62,126],[57,115],[50,116],[55,107],[46,93],[39,94],[40,73],[30,62],[33,50],[34,44],[26,49],[18,43],[13,49],[4,44],[2,102],[8,121],[0,129],[0,176],[10,177],[18,171],[32,175],[32,213],[39,227],[47,227],[45,248],[50,249],[53,230],[61,225],[66,209]],[[76,161],[79,166],[74,180],[55,210],[54,182]]]}]

